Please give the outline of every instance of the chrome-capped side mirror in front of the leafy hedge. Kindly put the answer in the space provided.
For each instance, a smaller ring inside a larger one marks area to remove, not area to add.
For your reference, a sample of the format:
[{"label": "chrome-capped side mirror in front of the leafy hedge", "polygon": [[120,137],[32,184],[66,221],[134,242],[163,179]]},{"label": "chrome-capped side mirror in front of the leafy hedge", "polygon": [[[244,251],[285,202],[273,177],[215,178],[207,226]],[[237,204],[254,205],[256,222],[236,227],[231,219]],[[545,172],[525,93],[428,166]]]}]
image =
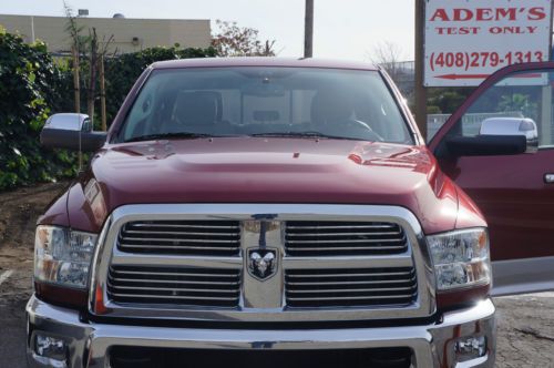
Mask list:
[{"label": "chrome-capped side mirror in front of the leafy hedge", "polygon": [[89,115],[54,114],[47,120],[40,142],[45,147],[94,152],[104,145],[107,134],[93,132]]}]

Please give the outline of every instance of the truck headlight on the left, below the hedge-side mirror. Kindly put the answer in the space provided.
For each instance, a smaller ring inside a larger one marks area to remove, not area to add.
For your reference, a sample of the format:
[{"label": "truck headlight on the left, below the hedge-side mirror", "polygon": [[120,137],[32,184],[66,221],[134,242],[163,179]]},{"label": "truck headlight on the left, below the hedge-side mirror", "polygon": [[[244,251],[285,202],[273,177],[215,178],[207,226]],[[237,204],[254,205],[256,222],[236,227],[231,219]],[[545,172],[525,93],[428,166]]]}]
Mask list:
[{"label": "truck headlight on the left, below the hedge-side mirror", "polygon": [[85,288],[96,239],[96,234],[38,226],[34,239],[35,280]]}]

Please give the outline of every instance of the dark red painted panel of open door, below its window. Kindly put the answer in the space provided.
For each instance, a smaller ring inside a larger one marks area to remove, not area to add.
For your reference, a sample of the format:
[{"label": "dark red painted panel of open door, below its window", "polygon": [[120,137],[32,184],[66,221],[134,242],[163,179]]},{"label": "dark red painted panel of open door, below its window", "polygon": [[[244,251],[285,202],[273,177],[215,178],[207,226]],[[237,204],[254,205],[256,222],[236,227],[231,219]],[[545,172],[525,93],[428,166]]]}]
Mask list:
[{"label": "dark red painted panel of open door, below its window", "polygon": [[554,171],[554,151],[513,156],[461,157],[443,170],[479,204],[489,223],[494,260],[546,257],[554,234],[554,190],[545,191],[544,170]]}]

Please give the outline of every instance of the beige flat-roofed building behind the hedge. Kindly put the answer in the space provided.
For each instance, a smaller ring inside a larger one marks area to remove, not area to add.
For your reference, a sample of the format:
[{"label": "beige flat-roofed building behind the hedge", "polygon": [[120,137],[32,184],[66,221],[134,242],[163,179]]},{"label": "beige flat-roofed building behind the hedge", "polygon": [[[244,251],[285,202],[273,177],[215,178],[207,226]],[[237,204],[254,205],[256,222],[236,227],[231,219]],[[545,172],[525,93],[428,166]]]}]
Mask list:
[{"label": "beige flat-roofed building behind the hedge", "polygon": [[[112,50],[120,53],[140,51],[152,47],[207,48],[211,42],[208,19],[127,19],[79,17],[83,34],[95,28],[99,40],[113,35]],[[65,31],[65,17],[6,16],[0,14],[0,25],[8,32],[19,33],[25,42],[44,41],[53,53],[71,51],[71,40]]]}]

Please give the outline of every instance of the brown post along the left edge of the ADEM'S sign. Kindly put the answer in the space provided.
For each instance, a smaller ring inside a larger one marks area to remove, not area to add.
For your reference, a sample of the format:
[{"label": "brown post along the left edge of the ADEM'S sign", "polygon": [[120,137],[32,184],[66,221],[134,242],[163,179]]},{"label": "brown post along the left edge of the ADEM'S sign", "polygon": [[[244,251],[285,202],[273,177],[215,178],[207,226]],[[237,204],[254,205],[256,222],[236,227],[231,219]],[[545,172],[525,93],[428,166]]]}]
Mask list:
[{"label": "brown post along the left edge of the ADEM'S sign", "polygon": [[416,122],[427,141],[427,89],[423,85],[424,72],[424,29],[425,0],[416,0]]}]

